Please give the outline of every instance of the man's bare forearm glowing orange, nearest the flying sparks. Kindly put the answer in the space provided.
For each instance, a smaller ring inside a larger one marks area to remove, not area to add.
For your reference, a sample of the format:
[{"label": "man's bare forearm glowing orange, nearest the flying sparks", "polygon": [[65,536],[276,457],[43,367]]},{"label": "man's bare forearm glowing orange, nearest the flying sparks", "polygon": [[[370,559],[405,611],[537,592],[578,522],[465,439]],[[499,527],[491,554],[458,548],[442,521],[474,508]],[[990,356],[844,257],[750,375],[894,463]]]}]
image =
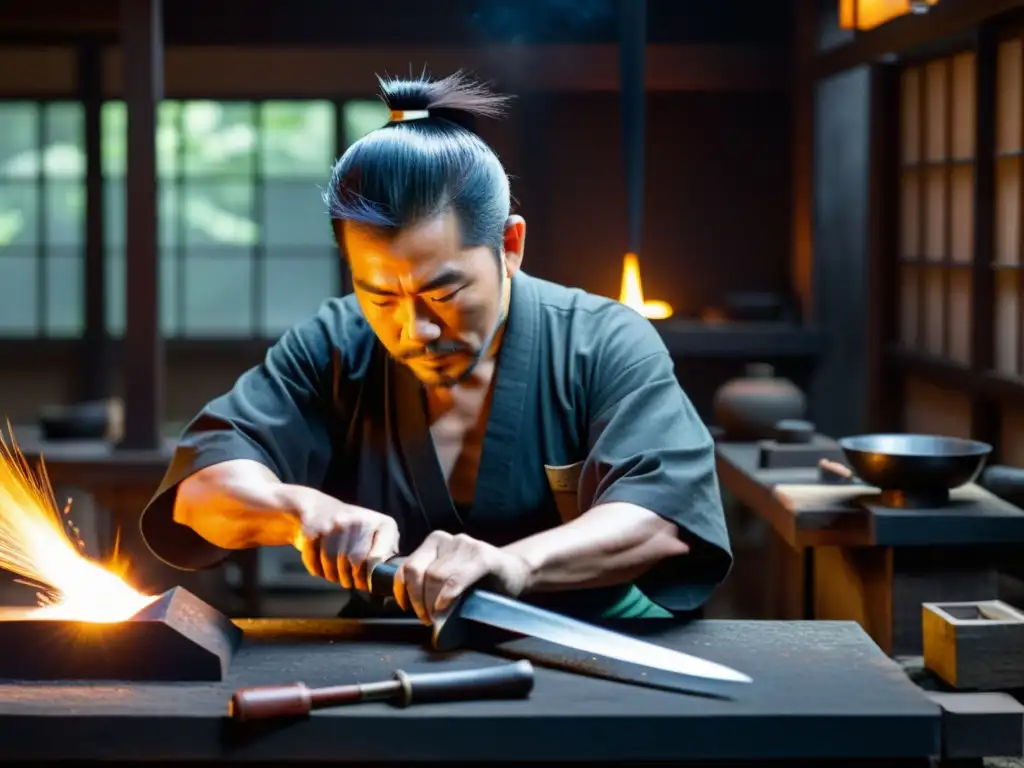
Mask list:
[{"label": "man's bare forearm glowing orange, nearest the flying sparks", "polygon": [[181,482],[174,519],[222,549],[288,545],[302,493],[314,492],[283,483],[257,462],[224,462]]}]

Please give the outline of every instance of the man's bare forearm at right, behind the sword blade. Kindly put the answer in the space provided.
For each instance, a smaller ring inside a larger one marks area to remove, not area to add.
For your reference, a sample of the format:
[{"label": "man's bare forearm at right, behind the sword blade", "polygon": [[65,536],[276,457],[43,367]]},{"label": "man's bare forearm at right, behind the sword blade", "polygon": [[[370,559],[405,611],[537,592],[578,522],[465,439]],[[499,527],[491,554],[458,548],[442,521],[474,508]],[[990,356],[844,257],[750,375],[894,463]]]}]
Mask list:
[{"label": "man's bare forearm at right, behind the sword blade", "polygon": [[621,502],[594,507],[505,549],[529,564],[527,589],[534,592],[625,584],[658,561],[689,551],[675,523]]}]

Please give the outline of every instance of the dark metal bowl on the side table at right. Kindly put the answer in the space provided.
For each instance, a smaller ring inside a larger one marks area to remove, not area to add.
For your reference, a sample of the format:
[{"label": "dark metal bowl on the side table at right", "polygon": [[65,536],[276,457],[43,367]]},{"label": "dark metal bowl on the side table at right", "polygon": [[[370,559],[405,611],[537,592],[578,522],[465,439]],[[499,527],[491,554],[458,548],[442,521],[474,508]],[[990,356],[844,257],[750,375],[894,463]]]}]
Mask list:
[{"label": "dark metal bowl on the side table at right", "polygon": [[992,453],[985,442],[927,434],[855,435],[839,445],[861,480],[921,504],[948,501],[952,488],[978,477]]}]

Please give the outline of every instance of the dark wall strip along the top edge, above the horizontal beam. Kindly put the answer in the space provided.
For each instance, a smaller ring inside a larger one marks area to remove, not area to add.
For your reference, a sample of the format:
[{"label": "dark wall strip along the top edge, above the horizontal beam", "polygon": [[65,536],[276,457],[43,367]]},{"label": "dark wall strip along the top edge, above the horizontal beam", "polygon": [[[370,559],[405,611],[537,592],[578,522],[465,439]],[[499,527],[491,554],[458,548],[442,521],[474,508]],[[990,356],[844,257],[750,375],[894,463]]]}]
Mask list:
[{"label": "dark wall strip along the top edge, above the horizontal beam", "polygon": [[[637,0],[639,1],[639,0]],[[810,0],[799,0],[808,2]],[[622,0],[166,0],[171,45],[466,45],[615,40]],[[118,32],[120,0],[4,0],[0,36]],[[791,0],[647,0],[648,41],[783,42]]]}]

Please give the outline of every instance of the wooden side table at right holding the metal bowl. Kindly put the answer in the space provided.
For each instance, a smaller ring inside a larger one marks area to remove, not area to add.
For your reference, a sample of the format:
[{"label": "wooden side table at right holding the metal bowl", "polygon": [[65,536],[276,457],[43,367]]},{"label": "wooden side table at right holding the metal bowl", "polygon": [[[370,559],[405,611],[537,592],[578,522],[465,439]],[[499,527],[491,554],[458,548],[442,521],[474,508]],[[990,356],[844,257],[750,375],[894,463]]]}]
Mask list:
[{"label": "wooden side table at right holding the metal bowl", "polygon": [[782,545],[783,617],[856,621],[893,655],[921,655],[922,603],[997,597],[999,562],[1024,543],[1024,510],[974,484],[954,500],[981,504],[887,509],[831,501],[870,490],[822,484],[816,467],[760,468],[757,442],[719,442],[715,455],[722,487]]}]

